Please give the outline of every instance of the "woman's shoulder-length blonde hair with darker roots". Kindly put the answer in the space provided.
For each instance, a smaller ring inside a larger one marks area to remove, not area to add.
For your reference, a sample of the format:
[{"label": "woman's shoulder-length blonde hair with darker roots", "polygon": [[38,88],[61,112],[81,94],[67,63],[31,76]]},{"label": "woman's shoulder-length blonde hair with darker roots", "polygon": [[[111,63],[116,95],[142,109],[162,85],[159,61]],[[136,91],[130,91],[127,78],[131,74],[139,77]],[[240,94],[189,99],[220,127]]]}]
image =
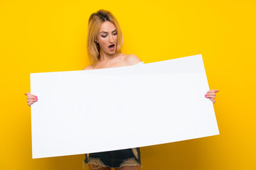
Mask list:
[{"label": "woman's shoulder-length blonde hair with darker roots", "polygon": [[88,35],[87,35],[87,52],[92,64],[96,64],[100,60],[100,46],[96,42],[97,34],[100,31],[102,23],[110,21],[117,28],[117,48],[116,52],[121,52],[122,47],[122,31],[117,22],[117,19],[110,11],[100,9],[96,13],[92,13],[88,22]]}]

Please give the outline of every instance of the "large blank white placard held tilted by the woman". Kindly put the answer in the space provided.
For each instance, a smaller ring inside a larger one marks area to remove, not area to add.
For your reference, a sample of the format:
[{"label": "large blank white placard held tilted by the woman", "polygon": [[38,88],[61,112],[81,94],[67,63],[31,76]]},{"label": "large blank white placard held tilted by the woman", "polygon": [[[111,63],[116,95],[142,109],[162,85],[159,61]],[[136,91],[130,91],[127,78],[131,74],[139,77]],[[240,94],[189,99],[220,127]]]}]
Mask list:
[{"label": "large blank white placard held tilted by the woman", "polygon": [[201,55],[112,69],[31,74],[33,158],[218,135]]}]

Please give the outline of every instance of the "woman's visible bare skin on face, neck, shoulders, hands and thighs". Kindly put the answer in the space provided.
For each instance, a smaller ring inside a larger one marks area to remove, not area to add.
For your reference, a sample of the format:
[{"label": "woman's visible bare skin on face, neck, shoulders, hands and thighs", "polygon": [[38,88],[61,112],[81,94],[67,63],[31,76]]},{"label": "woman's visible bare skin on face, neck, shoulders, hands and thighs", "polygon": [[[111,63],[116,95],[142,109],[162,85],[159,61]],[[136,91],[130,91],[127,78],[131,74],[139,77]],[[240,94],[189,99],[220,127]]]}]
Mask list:
[{"label": "woman's visible bare skin on face, neck, shoulders, hands and thighs", "polygon": [[[105,21],[102,23],[100,32],[97,35],[97,40],[95,40],[100,45],[100,61],[98,61],[94,66],[89,65],[85,67],[87,69],[105,69],[112,67],[124,67],[137,64],[141,62],[139,57],[136,55],[124,55],[121,52],[116,52],[117,47],[117,30],[113,23]],[[109,46],[114,45],[114,50],[110,50]],[[218,90],[210,90],[206,92],[206,98],[215,103],[215,96]],[[38,101],[37,96],[28,92],[25,94],[27,96],[28,106]],[[116,168],[116,170],[139,170],[140,166],[124,166],[121,168]],[[90,169],[95,169],[95,167],[90,166]],[[97,170],[110,170],[108,167],[98,168]]]}]

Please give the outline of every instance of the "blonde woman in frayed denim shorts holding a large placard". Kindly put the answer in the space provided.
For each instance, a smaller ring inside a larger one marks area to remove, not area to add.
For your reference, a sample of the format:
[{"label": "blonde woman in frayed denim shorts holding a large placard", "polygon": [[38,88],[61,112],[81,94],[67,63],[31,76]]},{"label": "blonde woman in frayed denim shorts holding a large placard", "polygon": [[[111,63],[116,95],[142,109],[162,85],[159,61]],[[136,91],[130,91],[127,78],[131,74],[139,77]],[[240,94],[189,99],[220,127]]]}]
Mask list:
[{"label": "blonde woman in frayed denim shorts holding a large placard", "polygon": [[[112,13],[105,10],[92,13],[87,35],[87,52],[92,64],[85,69],[124,67],[142,63],[136,55],[124,55],[121,47],[122,32]],[[210,90],[205,97],[215,103],[216,92],[218,91]],[[38,101],[37,96],[30,92],[26,95],[28,106]],[[132,148],[85,154],[85,163],[90,165],[90,169],[97,170],[136,170],[141,166],[140,151],[139,148]]]}]

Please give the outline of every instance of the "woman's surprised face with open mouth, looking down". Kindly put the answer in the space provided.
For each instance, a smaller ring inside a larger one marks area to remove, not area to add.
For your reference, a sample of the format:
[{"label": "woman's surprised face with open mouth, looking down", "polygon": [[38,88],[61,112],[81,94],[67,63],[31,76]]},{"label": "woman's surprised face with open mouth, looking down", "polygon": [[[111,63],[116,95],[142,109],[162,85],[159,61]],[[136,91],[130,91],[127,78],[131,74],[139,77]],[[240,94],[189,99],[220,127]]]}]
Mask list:
[{"label": "woman's surprised face with open mouth, looking down", "polygon": [[100,51],[107,55],[113,55],[117,48],[117,28],[110,21],[105,21],[97,35]]}]

